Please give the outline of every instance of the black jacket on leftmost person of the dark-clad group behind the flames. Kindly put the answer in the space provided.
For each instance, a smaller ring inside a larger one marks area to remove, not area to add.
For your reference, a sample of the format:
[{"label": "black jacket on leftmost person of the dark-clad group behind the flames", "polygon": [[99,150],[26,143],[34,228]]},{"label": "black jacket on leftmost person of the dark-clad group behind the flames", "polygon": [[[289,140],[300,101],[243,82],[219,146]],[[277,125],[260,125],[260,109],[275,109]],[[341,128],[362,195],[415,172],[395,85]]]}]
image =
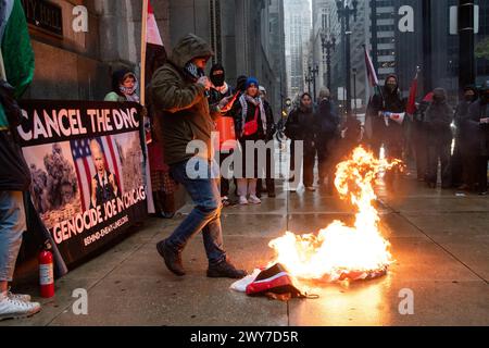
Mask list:
[{"label": "black jacket on leftmost person of the dark-clad group behind the flames", "polygon": [[317,133],[316,115],[312,108],[305,110],[299,107],[290,112],[285,129],[288,138],[292,140],[314,141]]}]

